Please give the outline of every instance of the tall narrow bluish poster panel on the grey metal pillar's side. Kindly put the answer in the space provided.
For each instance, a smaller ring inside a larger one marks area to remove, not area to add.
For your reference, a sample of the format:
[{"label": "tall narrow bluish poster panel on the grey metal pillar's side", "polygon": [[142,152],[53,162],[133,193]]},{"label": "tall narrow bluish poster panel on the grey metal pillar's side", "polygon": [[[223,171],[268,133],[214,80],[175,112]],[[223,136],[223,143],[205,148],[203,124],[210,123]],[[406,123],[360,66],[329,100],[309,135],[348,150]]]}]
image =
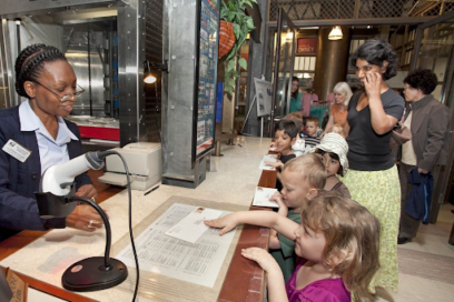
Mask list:
[{"label": "tall narrow bluish poster panel on the grey metal pillar's side", "polygon": [[[199,4],[198,64],[196,67],[197,119],[193,135],[197,139],[193,161],[213,149],[216,125],[216,89],[218,61],[219,0]],[[193,143],[194,144],[194,143]]]}]

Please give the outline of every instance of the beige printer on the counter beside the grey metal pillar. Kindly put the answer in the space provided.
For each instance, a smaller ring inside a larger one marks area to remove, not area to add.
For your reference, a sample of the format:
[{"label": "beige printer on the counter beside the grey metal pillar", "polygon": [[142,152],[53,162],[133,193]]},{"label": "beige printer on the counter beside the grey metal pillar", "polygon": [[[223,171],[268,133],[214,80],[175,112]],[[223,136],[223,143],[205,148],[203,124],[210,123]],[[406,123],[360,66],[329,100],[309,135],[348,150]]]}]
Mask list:
[{"label": "beige printer on the counter beside the grey metal pillar", "polygon": [[[128,164],[131,189],[147,190],[161,180],[161,144],[157,142],[135,142],[124,148],[114,148]],[[125,167],[119,157],[106,158],[105,174],[98,179],[108,184],[126,187]]]}]

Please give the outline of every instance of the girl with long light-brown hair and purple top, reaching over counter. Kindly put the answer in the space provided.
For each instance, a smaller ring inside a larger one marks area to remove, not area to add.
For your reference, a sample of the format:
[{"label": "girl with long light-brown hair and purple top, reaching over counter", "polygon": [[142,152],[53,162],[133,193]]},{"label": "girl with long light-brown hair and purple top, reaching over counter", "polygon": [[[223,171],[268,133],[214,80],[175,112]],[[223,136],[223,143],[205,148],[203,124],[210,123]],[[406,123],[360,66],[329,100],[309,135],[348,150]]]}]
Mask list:
[{"label": "girl with long light-brown hair and purple top, reaching over counter", "polygon": [[296,241],[300,258],[285,285],[276,261],[265,250],[249,248],[243,256],[267,272],[268,301],[355,301],[371,298],[367,290],[378,270],[379,223],[366,208],[351,199],[324,193],[302,210],[302,224],[269,211],[237,212],[206,221],[221,228],[219,234],[239,223],[264,225]]}]

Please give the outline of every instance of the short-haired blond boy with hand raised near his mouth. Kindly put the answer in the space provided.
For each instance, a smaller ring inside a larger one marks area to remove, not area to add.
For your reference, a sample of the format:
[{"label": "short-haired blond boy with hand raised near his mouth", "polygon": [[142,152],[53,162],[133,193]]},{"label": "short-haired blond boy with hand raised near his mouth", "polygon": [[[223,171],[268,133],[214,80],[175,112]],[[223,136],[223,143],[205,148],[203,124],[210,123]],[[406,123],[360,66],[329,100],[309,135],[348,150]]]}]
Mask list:
[{"label": "short-haired blond boy with hand raised near his mouth", "polygon": [[[317,197],[318,191],[325,185],[325,167],[318,155],[304,154],[284,165],[282,181],[284,184],[282,193],[276,193],[270,200],[279,205],[278,214],[299,224],[302,207]],[[295,271],[295,241],[272,230],[269,249],[287,281]]]}]

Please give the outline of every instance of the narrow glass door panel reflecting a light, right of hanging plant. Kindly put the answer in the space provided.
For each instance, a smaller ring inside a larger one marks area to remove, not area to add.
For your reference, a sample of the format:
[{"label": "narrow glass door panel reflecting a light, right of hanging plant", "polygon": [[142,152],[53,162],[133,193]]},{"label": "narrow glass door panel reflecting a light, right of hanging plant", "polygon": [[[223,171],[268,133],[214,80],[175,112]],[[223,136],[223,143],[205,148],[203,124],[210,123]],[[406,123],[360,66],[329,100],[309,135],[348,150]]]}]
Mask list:
[{"label": "narrow glass door panel reflecting a light, right of hanging plant", "polygon": [[276,50],[273,73],[273,100],[270,131],[274,137],[275,118],[283,118],[290,108],[292,77],[295,62],[296,28],[290,19],[279,9],[277,21]]}]

